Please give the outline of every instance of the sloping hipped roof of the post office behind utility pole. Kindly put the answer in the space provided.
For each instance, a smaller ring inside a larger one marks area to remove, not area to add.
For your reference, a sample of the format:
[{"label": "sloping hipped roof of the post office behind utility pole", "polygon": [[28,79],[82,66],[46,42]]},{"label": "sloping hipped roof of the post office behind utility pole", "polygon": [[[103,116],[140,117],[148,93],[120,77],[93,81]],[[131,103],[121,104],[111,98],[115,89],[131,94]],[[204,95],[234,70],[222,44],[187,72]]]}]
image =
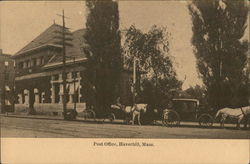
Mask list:
[{"label": "sloping hipped roof of the post office behind utility pole", "polygon": [[[38,35],[34,40],[28,43],[25,47],[19,50],[14,57],[30,53],[34,50],[44,49],[47,47],[56,47],[61,49],[61,31],[62,26],[58,24],[52,24],[49,28],[47,28],[44,32]],[[69,39],[67,43],[71,45],[66,45],[66,60],[72,60],[75,57],[76,60],[85,59],[86,55],[84,54],[83,47],[86,47],[86,43],[84,41],[85,29],[79,29],[74,32],[66,29],[66,38]],[[62,62],[62,55],[55,54],[51,57],[48,63],[46,63],[45,67],[56,66],[56,64],[60,64]]]}]

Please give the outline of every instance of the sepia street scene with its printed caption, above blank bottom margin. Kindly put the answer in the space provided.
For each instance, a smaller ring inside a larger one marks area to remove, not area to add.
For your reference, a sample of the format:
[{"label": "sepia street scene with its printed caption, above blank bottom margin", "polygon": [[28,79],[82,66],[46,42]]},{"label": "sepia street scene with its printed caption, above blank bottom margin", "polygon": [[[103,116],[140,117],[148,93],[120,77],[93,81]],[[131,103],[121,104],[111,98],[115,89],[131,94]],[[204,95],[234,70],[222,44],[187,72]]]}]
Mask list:
[{"label": "sepia street scene with its printed caption, above blank bottom margin", "polygon": [[247,0],[1,1],[1,140],[249,141],[249,13]]}]

